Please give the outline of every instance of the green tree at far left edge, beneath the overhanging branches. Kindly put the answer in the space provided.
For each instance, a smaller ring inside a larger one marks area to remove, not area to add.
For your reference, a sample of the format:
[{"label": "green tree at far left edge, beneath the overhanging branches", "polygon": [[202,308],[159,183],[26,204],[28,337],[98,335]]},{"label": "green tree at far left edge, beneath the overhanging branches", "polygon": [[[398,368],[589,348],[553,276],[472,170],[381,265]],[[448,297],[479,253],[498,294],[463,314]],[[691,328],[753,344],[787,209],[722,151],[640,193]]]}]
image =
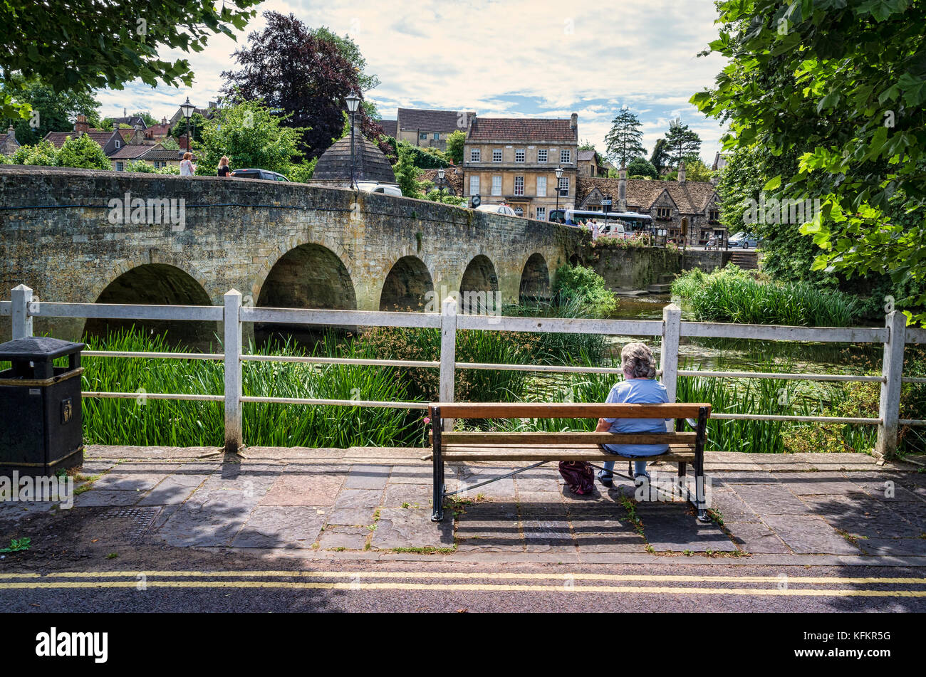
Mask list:
[{"label": "green tree at far left edge, beneath the overhanging branches", "polygon": [[56,92],[34,77],[23,80],[15,75],[12,80],[0,88],[0,99],[10,96],[19,104],[29,105],[32,113],[29,119],[4,117],[0,120],[0,129],[6,130],[12,125],[19,143],[38,143],[49,131],[71,131],[78,115],[87,117],[91,127],[100,121],[97,113],[100,102],[89,92]]}]

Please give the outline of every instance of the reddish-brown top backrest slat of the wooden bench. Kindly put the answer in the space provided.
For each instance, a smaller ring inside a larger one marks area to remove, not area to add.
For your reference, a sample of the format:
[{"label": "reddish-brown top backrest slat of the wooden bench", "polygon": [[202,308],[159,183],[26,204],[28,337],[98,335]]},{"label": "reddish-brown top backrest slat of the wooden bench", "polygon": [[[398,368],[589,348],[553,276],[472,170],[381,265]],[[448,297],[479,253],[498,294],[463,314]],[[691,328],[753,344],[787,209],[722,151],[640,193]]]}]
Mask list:
[{"label": "reddish-brown top backrest slat of the wooden bench", "polygon": [[672,402],[669,404],[604,404],[601,402],[441,402],[442,418],[697,418],[710,404]]}]

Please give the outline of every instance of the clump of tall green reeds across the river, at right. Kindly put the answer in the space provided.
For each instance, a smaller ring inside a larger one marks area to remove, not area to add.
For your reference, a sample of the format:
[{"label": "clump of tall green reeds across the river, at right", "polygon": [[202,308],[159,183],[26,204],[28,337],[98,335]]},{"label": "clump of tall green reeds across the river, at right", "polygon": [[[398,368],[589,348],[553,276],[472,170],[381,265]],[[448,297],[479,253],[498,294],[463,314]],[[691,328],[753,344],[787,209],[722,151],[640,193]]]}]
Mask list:
[{"label": "clump of tall green reeds across the river, at right", "polygon": [[672,283],[698,320],[750,325],[849,326],[859,314],[856,299],[805,282],[760,281],[727,265],[712,273],[690,270]]}]

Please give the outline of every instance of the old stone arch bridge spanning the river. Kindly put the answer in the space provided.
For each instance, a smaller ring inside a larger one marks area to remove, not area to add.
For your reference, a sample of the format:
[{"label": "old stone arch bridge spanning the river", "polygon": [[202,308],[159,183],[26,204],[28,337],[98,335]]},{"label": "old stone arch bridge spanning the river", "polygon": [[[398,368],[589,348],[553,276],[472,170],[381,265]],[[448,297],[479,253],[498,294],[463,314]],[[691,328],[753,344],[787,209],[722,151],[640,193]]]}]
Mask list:
[{"label": "old stone arch bridge spanning the river", "polygon": [[[582,247],[576,228],[382,194],[0,168],[3,298],[22,283],[55,302],[220,305],[239,289],[273,307],[425,310],[454,292],[507,304],[548,296]],[[40,320],[37,333],[66,339],[101,328]],[[0,339],[9,332],[2,323]]]}]

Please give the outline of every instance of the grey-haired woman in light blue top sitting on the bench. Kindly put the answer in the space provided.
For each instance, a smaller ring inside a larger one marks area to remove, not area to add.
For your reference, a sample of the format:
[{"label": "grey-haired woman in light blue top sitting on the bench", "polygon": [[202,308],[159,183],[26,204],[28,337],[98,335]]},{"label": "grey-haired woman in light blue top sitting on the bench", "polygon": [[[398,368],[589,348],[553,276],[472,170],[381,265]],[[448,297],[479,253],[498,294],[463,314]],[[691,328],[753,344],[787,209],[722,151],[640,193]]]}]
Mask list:
[{"label": "grey-haired woman in light blue top sitting on the bench", "polygon": [[[653,351],[644,343],[628,343],[620,351],[620,366],[624,380],[611,388],[607,402],[613,404],[660,404],[669,401],[666,387],[656,380],[656,360]],[[664,433],[666,422],[661,418],[599,418],[595,432],[604,433]],[[606,444],[602,449],[621,456],[657,456],[669,450],[668,444]],[[614,462],[604,464],[598,472],[598,480],[604,486],[612,486]],[[649,482],[645,461],[633,462],[633,482],[639,486],[643,480]]]}]

